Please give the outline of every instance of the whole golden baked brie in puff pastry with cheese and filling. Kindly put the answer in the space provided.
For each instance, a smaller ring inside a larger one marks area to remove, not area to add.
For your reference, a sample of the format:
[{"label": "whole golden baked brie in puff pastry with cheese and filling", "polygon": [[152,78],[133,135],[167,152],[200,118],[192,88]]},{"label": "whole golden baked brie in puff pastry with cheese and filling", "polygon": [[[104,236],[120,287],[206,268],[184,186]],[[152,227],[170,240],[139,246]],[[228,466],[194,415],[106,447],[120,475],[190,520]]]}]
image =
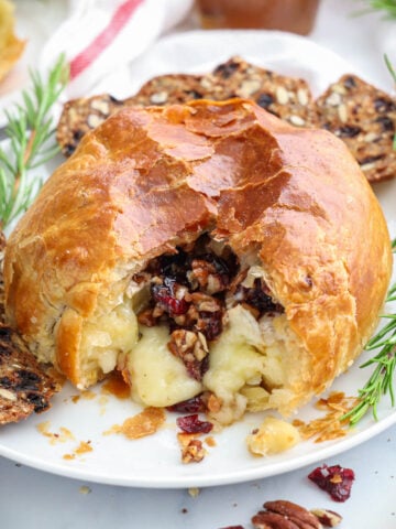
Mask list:
[{"label": "whole golden baked brie in puff pastry with cheese and filling", "polygon": [[215,396],[288,414],[372,334],[392,268],[345,145],[252,101],[125,108],[87,134],[10,237],[7,316],[78,388]]}]

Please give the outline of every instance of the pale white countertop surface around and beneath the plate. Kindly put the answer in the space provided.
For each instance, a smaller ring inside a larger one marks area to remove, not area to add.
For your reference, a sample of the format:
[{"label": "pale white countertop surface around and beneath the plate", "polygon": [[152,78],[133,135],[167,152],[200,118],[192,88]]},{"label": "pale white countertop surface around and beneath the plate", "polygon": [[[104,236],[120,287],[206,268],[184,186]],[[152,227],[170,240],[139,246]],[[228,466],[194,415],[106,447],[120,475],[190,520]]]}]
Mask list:
[{"label": "pale white countertop surface around and beneath the plate", "polygon": [[[352,17],[356,3],[322,0],[310,37],[391,89],[382,56],[395,53],[396,22],[382,21],[377,14]],[[220,529],[242,525],[248,529],[264,501],[284,498],[340,512],[340,529],[396,528],[396,425],[322,463],[355,472],[352,496],[344,504],[336,504],[307,479],[316,465],[237,485],[160,490],[80,482],[0,457],[0,527]]]}]

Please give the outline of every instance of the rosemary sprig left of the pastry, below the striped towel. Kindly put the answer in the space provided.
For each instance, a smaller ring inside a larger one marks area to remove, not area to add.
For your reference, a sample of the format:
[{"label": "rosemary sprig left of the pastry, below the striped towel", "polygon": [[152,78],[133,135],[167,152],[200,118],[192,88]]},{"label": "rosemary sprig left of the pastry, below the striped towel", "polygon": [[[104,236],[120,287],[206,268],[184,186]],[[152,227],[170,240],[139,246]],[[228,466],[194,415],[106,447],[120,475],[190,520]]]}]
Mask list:
[{"label": "rosemary sprig left of the pastry, below the striped towel", "polygon": [[43,80],[30,73],[32,87],[22,91],[22,104],[6,111],[9,149],[0,148],[0,230],[26,210],[42,182],[30,171],[51,160],[59,150],[54,141],[52,108],[68,80],[62,55]]}]

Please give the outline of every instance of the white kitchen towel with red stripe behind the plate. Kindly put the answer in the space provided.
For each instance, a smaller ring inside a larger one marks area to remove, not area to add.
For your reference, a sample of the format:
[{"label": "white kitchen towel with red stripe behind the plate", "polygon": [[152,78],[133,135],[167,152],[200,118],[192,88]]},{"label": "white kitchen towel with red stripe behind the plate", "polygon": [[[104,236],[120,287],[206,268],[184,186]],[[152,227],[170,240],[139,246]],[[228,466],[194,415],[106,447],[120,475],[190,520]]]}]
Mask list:
[{"label": "white kitchen towel with red stripe behind the plate", "polygon": [[61,53],[70,65],[65,99],[96,91],[106,76],[128,93],[125,68],[155,40],[178,24],[193,0],[69,0],[68,15],[45,43],[40,57],[47,69]]}]

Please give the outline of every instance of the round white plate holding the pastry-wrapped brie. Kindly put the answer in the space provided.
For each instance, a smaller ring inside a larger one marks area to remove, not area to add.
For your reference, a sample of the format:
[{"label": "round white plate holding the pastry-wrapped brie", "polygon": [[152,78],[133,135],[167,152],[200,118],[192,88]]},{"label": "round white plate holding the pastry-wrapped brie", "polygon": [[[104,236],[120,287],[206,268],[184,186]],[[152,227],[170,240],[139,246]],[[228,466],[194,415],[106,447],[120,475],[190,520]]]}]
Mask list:
[{"label": "round white plate holding the pastry-wrapped brie", "polygon": [[[301,37],[265,32],[230,35],[230,32],[195,32],[162,41],[145,61],[134,63],[131,75],[135,77],[136,87],[152,75],[204,71],[209,63],[219,63],[235,53],[277,72],[301,75],[310,80],[315,91],[351,71],[342,58]],[[396,181],[377,185],[375,191],[395,237]],[[367,368],[359,368],[365,357],[367,354],[341,376],[332,389],[355,395],[370,375]],[[385,398],[377,410],[378,421],[369,414],[346,438],[319,444],[304,442],[288,452],[260,458],[249,454],[245,438],[261,423],[264,413],[248,414],[243,421],[215,435],[216,446],[208,447],[209,453],[201,463],[183,465],[174,414],[169,413],[166,425],[150,438],[128,441],[121,435],[103,435],[113,424],[122,423],[141,409],[113,396],[103,397],[100,391],[100,387],[95,388],[91,400],[80,398],[74,402],[70,397],[77,391],[66,387],[54,398],[52,409],[45,414],[0,430],[0,454],[43,471],[85,481],[158,488],[211,486],[273,476],[323,462],[396,423],[396,409],[392,409]],[[307,406],[297,417],[307,420],[319,414],[314,406]],[[56,442],[52,443],[37,431],[36,427],[45,421],[52,433],[61,433]],[[74,439],[62,435],[62,428],[68,429]],[[67,454],[76,454],[81,441],[90,441],[92,451],[65,458]]]}]

